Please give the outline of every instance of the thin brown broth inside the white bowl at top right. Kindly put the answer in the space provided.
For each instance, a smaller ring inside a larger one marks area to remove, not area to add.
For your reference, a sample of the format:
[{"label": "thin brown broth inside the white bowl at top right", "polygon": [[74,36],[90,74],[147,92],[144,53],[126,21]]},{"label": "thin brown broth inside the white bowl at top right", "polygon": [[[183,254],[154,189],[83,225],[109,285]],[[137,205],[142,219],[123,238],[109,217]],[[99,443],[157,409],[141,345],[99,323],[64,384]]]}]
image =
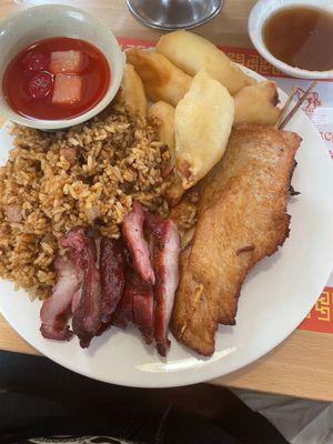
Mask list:
[{"label": "thin brown broth inside the white bowl at top right", "polygon": [[333,14],[317,8],[284,8],[263,28],[268,50],[291,67],[333,69]]}]

